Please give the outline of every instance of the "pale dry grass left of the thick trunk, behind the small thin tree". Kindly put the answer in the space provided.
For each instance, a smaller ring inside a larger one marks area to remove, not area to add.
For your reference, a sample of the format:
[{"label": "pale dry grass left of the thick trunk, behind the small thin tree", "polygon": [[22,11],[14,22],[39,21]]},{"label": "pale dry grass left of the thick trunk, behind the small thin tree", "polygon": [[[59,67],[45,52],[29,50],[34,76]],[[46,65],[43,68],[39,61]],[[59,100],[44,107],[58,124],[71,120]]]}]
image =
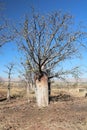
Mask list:
[{"label": "pale dry grass left of the thick trunk, behind the small thin tree", "polygon": [[[30,91],[30,93],[27,95],[26,92],[26,87],[25,85],[23,86],[18,86],[17,84],[11,84],[10,88],[10,96],[12,98],[33,98],[35,97],[35,93],[33,90]],[[0,97],[1,98],[6,98],[7,97],[7,84],[0,85]]]}]

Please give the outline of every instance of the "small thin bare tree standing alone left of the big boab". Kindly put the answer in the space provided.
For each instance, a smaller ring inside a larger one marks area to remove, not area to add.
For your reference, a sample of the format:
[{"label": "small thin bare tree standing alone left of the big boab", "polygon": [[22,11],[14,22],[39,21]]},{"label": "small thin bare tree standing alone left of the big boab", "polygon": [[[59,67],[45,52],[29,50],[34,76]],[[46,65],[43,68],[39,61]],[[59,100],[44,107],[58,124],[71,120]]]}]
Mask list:
[{"label": "small thin bare tree standing alone left of the big boab", "polygon": [[8,86],[7,86],[7,100],[10,100],[10,88],[11,88],[11,75],[14,68],[14,64],[10,63],[9,65],[6,65],[7,71],[5,73],[8,74]]}]

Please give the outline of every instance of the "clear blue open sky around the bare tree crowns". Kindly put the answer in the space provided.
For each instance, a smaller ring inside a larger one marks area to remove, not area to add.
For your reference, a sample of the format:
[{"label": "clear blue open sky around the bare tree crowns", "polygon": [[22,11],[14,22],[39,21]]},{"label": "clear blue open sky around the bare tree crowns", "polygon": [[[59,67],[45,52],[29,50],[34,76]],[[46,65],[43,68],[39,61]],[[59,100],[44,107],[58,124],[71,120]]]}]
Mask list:
[{"label": "clear blue open sky around the bare tree crowns", "polygon": [[[87,0],[0,0],[4,2],[3,14],[11,19],[19,21],[25,13],[31,12],[31,6],[40,13],[48,13],[55,10],[69,12],[75,17],[75,22],[83,21],[87,25]],[[17,63],[19,61],[19,52],[14,43],[8,43],[0,48],[0,77],[6,77],[4,65],[9,62]],[[81,60],[74,60],[69,65],[79,65],[85,70],[83,77],[87,78],[87,52],[83,53]],[[65,65],[67,67],[67,65]],[[16,76],[17,73],[14,75]]]}]

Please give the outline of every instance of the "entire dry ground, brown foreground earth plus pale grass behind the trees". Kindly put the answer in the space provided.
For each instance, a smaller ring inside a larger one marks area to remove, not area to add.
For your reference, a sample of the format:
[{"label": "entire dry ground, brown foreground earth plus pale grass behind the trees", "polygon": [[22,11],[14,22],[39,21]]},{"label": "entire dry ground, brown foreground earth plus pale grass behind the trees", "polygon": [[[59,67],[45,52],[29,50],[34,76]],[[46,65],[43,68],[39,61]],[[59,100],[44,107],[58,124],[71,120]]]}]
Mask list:
[{"label": "entire dry ground, brown foreground earth plus pale grass behind the trees", "polygon": [[[0,86],[0,94],[6,96],[6,92],[6,86]],[[51,102],[41,110],[35,102],[26,102],[26,88],[23,84],[13,84],[11,96],[20,100],[0,102],[0,130],[87,130],[87,98],[84,98],[86,85],[52,86],[52,96],[60,93],[75,98]],[[29,94],[29,98],[32,97],[35,97],[34,91]]]}]

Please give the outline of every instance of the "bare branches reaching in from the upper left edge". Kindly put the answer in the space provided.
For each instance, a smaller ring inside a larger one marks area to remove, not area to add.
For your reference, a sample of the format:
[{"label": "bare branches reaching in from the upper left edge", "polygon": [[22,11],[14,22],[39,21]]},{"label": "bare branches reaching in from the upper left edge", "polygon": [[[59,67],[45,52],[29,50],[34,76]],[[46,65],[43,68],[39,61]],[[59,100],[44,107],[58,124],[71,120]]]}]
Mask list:
[{"label": "bare branches reaching in from the upper left edge", "polygon": [[0,47],[7,42],[13,41],[16,37],[14,32],[12,21],[8,20],[3,14],[5,3],[0,2]]}]

